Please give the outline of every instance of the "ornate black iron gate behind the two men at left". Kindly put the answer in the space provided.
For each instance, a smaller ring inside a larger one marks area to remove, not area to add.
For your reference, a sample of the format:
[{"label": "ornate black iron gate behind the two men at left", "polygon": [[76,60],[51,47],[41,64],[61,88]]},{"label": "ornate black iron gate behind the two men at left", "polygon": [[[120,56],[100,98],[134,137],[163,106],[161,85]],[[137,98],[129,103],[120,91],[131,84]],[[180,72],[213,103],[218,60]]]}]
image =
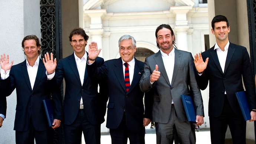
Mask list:
[{"label": "ornate black iron gate behind the two men at left", "polygon": [[[46,52],[52,52],[58,62],[62,58],[61,0],[40,0],[40,22],[41,57],[44,58]],[[54,130],[53,143],[64,144],[63,136],[63,125],[61,124]]]}]

